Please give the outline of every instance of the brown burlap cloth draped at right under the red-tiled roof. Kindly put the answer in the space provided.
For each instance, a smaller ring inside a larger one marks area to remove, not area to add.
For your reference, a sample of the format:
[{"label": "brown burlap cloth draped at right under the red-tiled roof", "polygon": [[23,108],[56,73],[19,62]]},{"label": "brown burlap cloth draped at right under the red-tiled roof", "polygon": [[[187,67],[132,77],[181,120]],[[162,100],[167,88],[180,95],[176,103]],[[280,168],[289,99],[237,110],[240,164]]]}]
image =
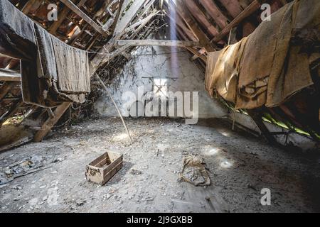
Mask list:
[{"label": "brown burlap cloth draped at right under the red-tiled roof", "polygon": [[295,0],[240,42],[208,54],[206,90],[237,109],[279,106],[314,84],[320,60],[320,1]]}]

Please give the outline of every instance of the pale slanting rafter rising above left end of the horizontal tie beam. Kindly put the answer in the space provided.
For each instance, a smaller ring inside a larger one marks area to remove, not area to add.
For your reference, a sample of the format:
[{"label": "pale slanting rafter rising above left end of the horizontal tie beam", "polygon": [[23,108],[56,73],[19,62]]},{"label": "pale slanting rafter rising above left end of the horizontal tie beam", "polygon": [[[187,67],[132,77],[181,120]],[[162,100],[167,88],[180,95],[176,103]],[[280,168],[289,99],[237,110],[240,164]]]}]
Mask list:
[{"label": "pale slanting rafter rising above left end of the horizontal tie beam", "polygon": [[137,16],[138,11],[142,8],[146,0],[135,0],[124,16],[119,20],[114,33],[122,33],[129,23]]}]

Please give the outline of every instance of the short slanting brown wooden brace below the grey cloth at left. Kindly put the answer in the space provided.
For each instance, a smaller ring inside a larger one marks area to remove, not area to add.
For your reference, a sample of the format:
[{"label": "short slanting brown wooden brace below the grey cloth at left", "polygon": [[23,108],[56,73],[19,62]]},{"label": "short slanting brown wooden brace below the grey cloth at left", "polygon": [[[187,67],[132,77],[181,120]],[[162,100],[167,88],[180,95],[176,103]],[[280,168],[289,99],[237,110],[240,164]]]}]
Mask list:
[{"label": "short slanting brown wooden brace below the grey cloth at left", "polygon": [[70,102],[65,102],[58,106],[54,111],[54,117],[49,117],[45,123],[41,126],[41,130],[36,132],[36,135],[34,135],[33,140],[35,142],[41,142],[43,138],[48,134],[48,132],[51,130],[51,128],[59,121],[61,116],[65,113],[65,111],[69,108],[71,105]]}]

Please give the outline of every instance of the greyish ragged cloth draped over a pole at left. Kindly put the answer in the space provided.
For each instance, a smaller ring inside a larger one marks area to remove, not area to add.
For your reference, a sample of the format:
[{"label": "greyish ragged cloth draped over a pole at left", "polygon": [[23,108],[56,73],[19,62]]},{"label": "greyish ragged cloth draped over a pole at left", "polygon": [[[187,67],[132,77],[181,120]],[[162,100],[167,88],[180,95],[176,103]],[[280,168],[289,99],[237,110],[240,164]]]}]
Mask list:
[{"label": "greyish ragged cloth draped over a pole at left", "polygon": [[50,35],[7,0],[0,1],[0,31],[0,52],[21,59],[24,102],[53,107],[85,101],[90,93],[86,51]]}]

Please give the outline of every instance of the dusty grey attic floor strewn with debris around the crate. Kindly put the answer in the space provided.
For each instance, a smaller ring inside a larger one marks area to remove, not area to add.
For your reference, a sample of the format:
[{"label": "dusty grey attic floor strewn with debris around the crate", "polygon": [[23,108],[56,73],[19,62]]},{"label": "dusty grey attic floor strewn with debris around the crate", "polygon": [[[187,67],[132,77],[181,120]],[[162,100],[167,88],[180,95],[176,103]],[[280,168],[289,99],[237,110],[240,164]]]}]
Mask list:
[{"label": "dusty grey attic floor strewn with debris around the crate", "polygon": [[[319,156],[272,148],[221,120],[127,123],[134,145],[118,118],[100,118],[1,153],[3,172],[23,160],[38,166],[0,185],[0,211],[320,211]],[[86,182],[85,165],[107,150],[123,153],[124,167],[105,186]],[[183,156],[191,153],[206,161],[209,187],[178,181]],[[271,206],[260,204],[263,188],[271,190]]]}]

